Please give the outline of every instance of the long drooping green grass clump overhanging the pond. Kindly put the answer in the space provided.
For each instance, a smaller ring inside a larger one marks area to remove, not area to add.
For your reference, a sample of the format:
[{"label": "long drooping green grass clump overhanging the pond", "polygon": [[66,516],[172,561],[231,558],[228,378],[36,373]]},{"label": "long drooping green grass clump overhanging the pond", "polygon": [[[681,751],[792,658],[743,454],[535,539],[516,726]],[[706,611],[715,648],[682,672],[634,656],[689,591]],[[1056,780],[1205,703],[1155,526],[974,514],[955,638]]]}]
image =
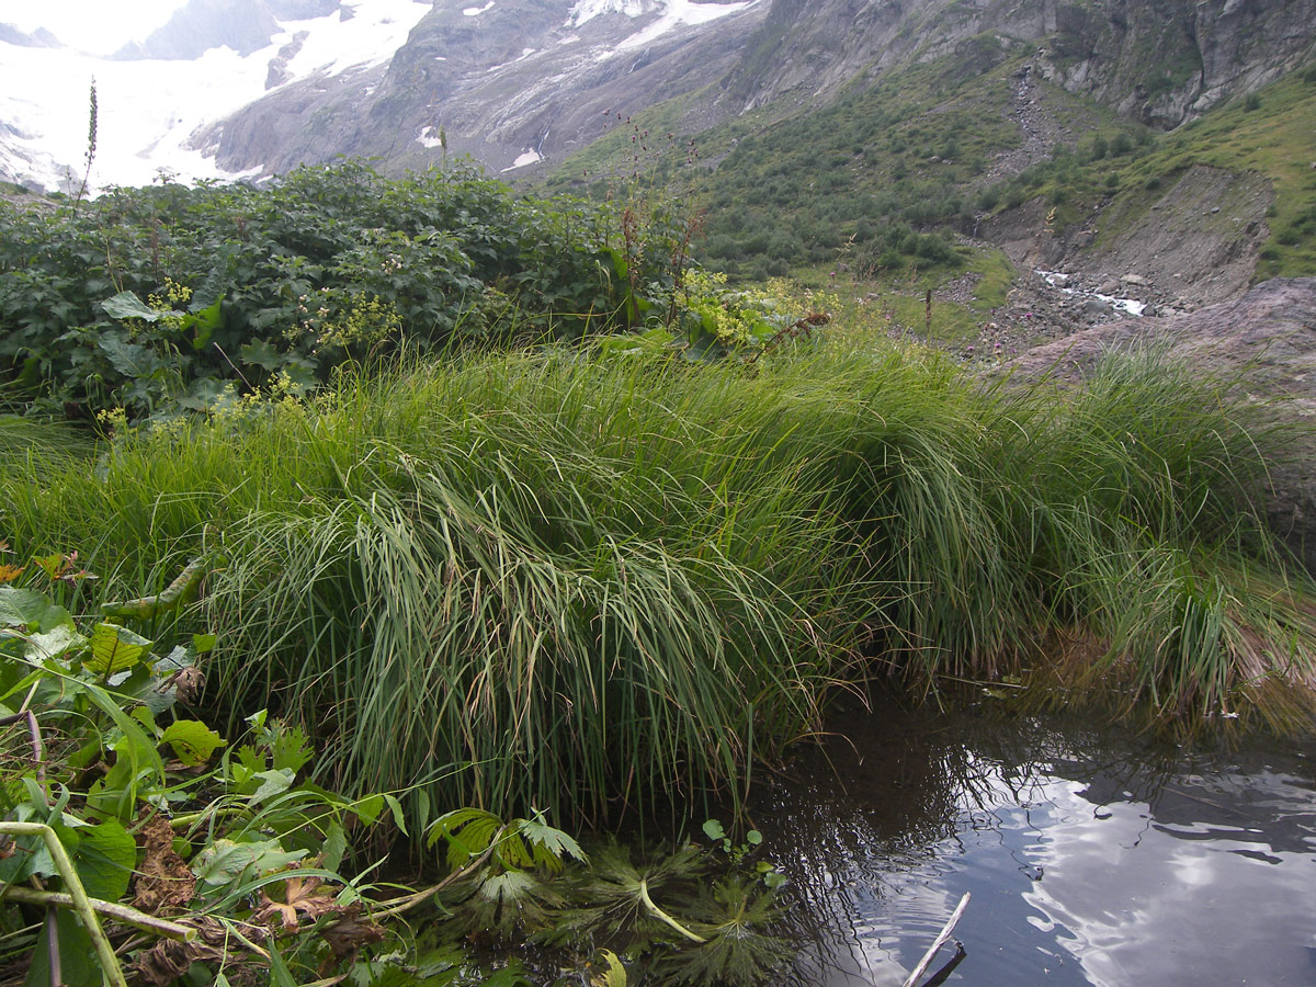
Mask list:
[{"label": "long drooping green grass clump overhanging the pond", "polygon": [[1163,719],[1311,684],[1309,587],[1258,520],[1274,441],[1155,354],[1075,392],[886,343],[471,357],[7,474],[0,533],[107,592],[217,540],[234,715],[301,719],[420,822],[597,821],[741,795],[838,686],[991,680],[1062,634],[1094,645],[1067,683]]}]

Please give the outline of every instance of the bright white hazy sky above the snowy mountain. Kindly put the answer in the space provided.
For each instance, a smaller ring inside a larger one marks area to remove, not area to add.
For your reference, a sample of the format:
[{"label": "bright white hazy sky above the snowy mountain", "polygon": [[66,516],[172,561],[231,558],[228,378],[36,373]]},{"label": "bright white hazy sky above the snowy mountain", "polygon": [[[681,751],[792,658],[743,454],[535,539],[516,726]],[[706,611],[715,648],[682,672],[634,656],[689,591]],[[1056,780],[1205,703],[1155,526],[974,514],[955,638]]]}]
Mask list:
[{"label": "bright white hazy sky above the snowy mountain", "polygon": [[46,28],[66,45],[96,55],[145,38],[186,0],[0,0],[0,22]]}]

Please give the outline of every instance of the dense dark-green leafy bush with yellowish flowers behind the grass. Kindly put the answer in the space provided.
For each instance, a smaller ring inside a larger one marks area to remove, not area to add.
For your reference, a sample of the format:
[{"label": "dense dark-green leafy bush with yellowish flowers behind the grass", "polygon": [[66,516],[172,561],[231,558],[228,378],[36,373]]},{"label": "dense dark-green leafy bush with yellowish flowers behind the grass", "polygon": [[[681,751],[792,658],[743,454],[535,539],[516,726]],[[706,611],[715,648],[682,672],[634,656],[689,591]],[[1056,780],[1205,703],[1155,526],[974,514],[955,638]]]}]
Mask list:
[{"label": "dense dark-green leafy bush with yellowish flowers behind the grass", "polygon": [[468,167],[386,179],[353,161],[267,191],[3,204],[0,384],[71,416],[138,417],[213,408],[234,387],[305,388],[404,337],[430,350],[578,337],[670,287],[667,226],[645,232],[651,249],[622,245],[607,209],[517,199]]}]

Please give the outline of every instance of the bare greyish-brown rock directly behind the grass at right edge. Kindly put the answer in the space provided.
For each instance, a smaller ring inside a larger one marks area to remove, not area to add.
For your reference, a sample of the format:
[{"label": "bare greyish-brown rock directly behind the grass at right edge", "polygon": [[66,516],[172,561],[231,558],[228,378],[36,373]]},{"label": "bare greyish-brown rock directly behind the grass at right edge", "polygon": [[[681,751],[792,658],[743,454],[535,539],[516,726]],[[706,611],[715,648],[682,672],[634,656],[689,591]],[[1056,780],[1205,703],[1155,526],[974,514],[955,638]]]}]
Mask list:
[{"label": "bare greyish-brown rock directly behind the grass at right edge", "polygon": [[1024,376],[1080,380],[1112,349],[1162,342],[1204,374],[1238,379],[1294,425],[1292,457],[1271,475],[1271,526],[1316,572],[1316,278],[1277,278],[1240,297],[1188,315],[1124,318],[1021,354]]}]

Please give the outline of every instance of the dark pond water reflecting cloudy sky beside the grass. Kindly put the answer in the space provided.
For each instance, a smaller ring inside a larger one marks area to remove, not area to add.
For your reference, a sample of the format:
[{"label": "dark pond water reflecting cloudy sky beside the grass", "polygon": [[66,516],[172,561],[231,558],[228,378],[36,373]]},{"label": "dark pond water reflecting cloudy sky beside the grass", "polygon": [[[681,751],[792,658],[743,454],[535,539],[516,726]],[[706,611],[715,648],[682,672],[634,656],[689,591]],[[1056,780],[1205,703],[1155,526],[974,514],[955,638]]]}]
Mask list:
[{"label": "dark pond water reflecting cloudy sky beside the grass", "polygon": [[755,808],[815,944],[795,983],[899,987],[967,891],[946,983],[1316,984],[1316,745],[890,709],[837,729]]}]

